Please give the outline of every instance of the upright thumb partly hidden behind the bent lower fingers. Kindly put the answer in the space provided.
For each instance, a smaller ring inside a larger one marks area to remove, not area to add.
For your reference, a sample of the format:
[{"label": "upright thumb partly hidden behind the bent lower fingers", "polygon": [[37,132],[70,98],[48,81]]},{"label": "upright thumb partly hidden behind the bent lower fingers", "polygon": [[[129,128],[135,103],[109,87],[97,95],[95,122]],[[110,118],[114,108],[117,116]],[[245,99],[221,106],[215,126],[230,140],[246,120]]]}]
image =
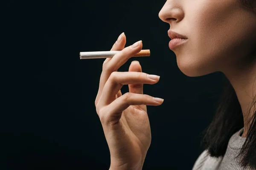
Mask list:
[{"label": "upright thumb partly hidden behind the bent lower fingers", "polygon": [[[140,62],[132,61],[129,71],[142,72]],[[129,84],[128,87],[130,93],[143,94],[143,84]]]}]

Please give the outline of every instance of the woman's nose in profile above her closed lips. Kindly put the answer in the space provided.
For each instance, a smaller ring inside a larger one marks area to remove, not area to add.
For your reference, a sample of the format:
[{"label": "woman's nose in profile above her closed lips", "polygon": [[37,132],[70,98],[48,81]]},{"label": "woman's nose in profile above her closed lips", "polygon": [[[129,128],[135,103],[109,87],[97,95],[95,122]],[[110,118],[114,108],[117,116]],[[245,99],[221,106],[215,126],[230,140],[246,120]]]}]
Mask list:
[{"label": "woman's nose in profile above her closed lips", "polygon": [[167,0],[158,14],[159,18],[169,24],[180,22],[185,14],[179,3],[179,0]]}]

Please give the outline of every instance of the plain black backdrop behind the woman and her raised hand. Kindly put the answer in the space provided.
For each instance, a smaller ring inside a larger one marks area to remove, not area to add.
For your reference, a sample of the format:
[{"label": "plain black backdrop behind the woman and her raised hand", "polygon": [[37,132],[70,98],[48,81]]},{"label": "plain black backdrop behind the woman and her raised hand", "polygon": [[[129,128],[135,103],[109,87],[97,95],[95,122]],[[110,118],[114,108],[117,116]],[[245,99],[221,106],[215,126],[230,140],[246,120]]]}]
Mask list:
[{"label": "plain black backdrop behind the woman and her raised hand", "polygon": [[109,168],[94,106],[104,59],[81,60],[79,52],[108,51],[122,32],[127,45],[143,40],[151,57],[133,57],[119,71],[138,60],[143,72],[161,77],[144,85],[144,94],[165,99],[148,106],[152,142],[143,169],[192,169],[224,77],[187,77],[179,70],[168,47],[169,24],[158,17],[165,2],[2,2],[1,169]]}]

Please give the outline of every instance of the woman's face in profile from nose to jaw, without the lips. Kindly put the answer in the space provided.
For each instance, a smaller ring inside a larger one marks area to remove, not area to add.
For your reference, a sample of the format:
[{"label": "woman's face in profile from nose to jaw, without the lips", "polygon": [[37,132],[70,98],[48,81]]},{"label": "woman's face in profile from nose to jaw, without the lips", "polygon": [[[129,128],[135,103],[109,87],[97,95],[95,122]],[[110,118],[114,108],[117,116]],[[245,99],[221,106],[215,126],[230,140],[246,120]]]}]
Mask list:
[{"label": "woman's face in profile from nose to jaw, without the lips", "polygon": [[172,51],[190,77],[233,69],[256,48],[256,13],[239,0],[167,0],[159,17],[188,38]]}]

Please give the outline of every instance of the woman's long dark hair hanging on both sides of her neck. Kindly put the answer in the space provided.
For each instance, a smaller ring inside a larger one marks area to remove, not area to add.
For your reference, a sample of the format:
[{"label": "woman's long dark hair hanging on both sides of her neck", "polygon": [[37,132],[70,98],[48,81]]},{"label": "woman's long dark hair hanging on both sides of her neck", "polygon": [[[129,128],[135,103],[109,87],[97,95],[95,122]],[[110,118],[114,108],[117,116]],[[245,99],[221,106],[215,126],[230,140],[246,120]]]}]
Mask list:
[{"label": "woman's long dark hair hanging on both sides of her neck", "polygon": [[[240,0],[244,6],[253,8],[255,0]],[[255,9],[255,8],[253,8]],[[250,55],[256,57],[256,52]],[[256,106],[256,96],[254,96],[250,109]],[[256,111],[252,116],[251,124],[247,133],[246,140],[237,156],[239,163],[244,169],[247,167],[256,168]],[[210,156],[224,156],[230,137],[244,127],[243,113],[236,92],[230,82],[226,79],[223,93],[218,101],[218,107],[213,121],[205,130],[204,149],[207,149]]]}]

